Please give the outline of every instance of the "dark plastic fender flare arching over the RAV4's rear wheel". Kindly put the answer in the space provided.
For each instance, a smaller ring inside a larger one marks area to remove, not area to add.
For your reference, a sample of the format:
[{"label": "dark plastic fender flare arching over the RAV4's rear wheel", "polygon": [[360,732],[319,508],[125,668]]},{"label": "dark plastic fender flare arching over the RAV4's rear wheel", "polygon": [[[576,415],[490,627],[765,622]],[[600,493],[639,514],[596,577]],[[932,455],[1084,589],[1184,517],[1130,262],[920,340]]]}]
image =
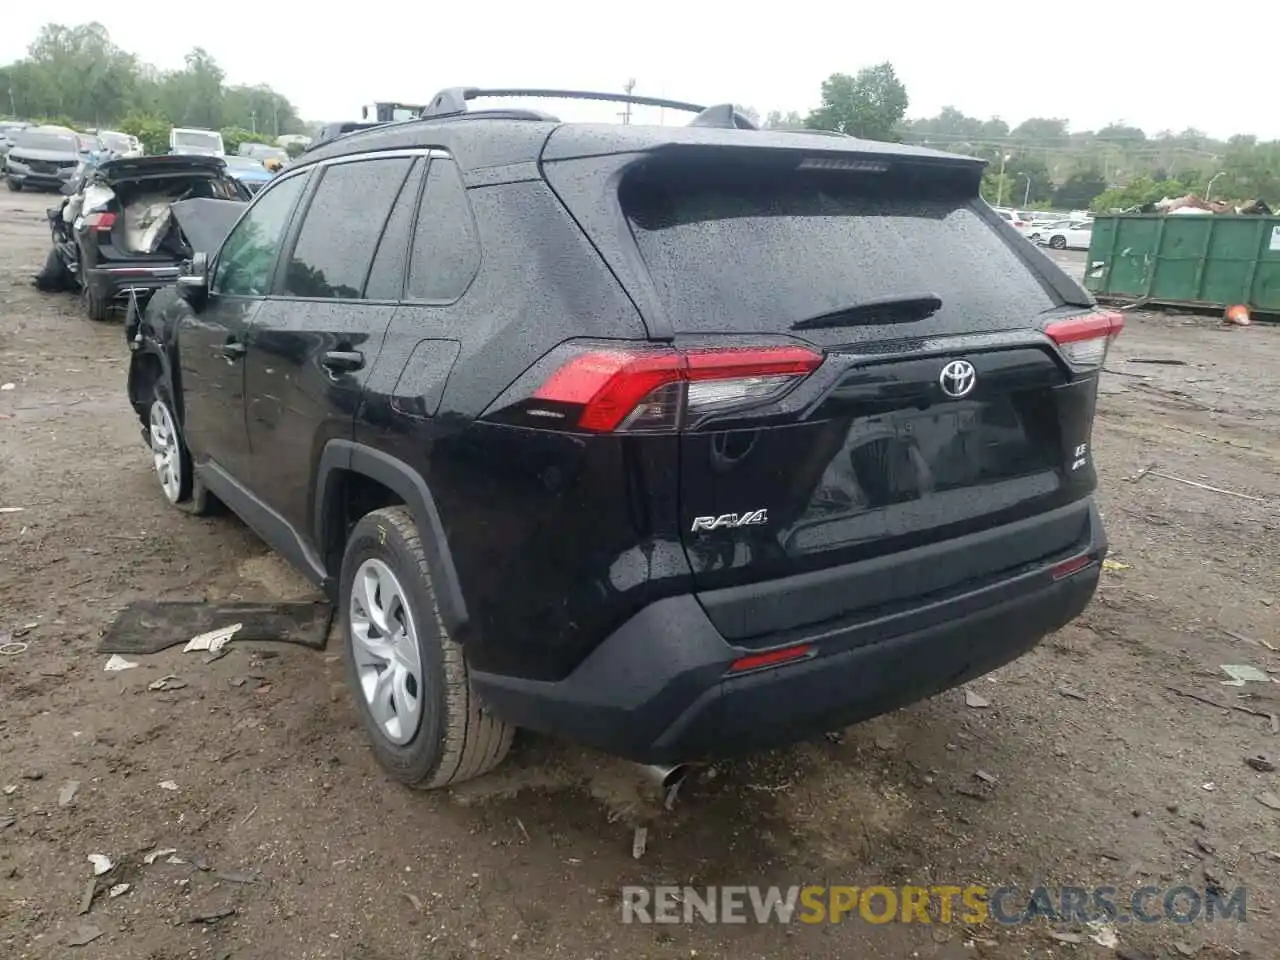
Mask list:
[{"label": "dark plastic fender flare arching over the RAV4's rear wheel", "polygon": [[[402,460],[372,447],[352,440],[329,440],[320,453],[316,472],[312,525],[317,544],[329,543],[326,534],[334,522],[340,522],[335,512],[335,497],[340,485],[335,481],[335,474],[339,470],[376,480],[404,500],[422,538],[422,550],[431,571],[431,586],[440,620],[444,621],[449,636],[461,641],[470,621],[467,604],[462,599],[462,585],[453,564],[453,554],[449,552],[444,524],[440,521],[440,512],[426,481]],[[335,584],[338,575],[339,571],[330,571],[329,575]]]}]

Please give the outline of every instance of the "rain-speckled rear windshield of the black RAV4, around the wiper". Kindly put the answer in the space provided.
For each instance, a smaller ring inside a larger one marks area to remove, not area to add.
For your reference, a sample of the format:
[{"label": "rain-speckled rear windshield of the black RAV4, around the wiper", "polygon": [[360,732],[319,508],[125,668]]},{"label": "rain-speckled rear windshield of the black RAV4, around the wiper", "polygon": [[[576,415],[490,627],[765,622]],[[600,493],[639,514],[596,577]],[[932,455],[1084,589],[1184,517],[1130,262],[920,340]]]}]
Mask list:
[{"label": "rain-speckled rear windshield of the black RAV4, around the wiper", "polygon": [[712,175],[641,174],[623,182],[620,198],[677,333],[785,333],[868,301],[922,294],[942,300],[931,333],[1025,325],[1060,302],[977,212],[974,192],[719,165]]}]

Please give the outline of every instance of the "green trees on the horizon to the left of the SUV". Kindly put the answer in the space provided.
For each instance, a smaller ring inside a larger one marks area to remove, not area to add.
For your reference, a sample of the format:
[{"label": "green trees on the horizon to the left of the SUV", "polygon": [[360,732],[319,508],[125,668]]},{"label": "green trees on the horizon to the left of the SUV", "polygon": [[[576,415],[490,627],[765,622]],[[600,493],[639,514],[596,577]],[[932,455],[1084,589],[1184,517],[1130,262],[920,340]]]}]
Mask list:
[{"label": "green trees on the horizon to the left of the SUV", "polygon": [[148,152],[168,150],[170,127],[223,131],[237,143],[307,131],[283,93],[228,86],[225,78],[198,46],[182,69],[157,70],[119,47],[101,23],[49,23],[27,56],[0,67],[0,114],[120,129],[140,137]]}]

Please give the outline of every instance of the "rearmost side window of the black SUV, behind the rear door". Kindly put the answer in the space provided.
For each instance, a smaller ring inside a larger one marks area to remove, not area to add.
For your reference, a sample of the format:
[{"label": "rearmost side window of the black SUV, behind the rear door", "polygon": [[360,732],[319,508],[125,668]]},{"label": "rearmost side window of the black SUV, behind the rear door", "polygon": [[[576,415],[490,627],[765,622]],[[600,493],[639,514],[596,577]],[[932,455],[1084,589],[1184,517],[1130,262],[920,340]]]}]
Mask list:
[{"label": "rearmost side window of the black SUV, behind the rear door", "polygon": [[462,174],[453,160],[434,159],[413,233],[408,297],[449,303],[480,269],[480,241]]}]

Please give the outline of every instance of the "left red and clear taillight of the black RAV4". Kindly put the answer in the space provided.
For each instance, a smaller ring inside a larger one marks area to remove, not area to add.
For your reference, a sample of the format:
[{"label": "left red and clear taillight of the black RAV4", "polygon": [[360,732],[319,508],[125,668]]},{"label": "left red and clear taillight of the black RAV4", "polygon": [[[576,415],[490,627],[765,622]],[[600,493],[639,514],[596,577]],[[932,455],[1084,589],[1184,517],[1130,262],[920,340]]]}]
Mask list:
[{"label": "left red and clear taillight of the black RAV4", "polygon": [[671,433],[777,399],[822,364],[808,347],[571,343],[513,384],[490,420],[590,433]]}]

